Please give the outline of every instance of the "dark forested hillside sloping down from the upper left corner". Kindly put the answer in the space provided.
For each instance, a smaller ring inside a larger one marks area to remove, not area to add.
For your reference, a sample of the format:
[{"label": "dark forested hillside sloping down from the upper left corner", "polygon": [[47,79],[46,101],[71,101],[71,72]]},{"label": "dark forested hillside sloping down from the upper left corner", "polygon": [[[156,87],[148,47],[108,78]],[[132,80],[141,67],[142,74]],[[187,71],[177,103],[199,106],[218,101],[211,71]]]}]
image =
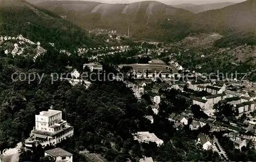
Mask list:
[{"label": "dark forested hillside sloping down from the upper left corner", "polygon": [[24,0],[0,1],[0,35],[18,34],[32,41],[53,42],[57,48],[95,43],[86,31],[48,10]]}]

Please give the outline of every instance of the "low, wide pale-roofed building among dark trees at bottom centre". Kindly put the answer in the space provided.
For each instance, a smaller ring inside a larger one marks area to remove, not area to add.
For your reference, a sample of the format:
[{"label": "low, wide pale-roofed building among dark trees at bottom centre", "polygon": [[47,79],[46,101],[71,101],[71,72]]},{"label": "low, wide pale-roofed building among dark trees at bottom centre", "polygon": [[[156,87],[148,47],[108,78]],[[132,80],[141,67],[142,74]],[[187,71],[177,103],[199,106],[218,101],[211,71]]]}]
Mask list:
[{"label": "low, wide pale-roofed building among dark trees at bottom centre", "polygon": [[134,135],[134,140],[138,141],[139,143],[153,142],[153,143],[156,143],[157,146],[160,146],[163,144],[163,140],[160,140],[154,133],[137,132],[133,135]]}]

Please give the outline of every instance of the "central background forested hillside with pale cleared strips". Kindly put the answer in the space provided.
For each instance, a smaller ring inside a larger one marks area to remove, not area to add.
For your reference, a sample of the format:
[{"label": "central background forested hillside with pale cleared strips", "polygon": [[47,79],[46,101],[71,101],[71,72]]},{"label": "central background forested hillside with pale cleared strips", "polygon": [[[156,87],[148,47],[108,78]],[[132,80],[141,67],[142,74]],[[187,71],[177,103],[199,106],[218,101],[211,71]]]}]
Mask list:
[{"label": "central background forested hillside with pale cleared strips", "polygon": [[48,9],[83,27],[118,30],[135,39],[176,41],[189,34],[193,13],[156,1],[131,4],[101,4],[82,1],[38,1],[35,5]]}]

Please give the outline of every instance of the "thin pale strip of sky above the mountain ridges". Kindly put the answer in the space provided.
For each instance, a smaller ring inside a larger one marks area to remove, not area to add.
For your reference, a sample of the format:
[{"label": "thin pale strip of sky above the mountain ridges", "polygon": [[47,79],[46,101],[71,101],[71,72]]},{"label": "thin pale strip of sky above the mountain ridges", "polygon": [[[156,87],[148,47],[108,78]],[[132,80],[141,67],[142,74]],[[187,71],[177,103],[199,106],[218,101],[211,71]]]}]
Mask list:
[{"label": "thin pale strip of sky above the mountain ridges", "polygon": [[[77,0],[75,0],[77,1]],[[101,2],[101,3],[110,3],[110,4],[129,4],[134,2],[140,1],[159,1],[164,4],[168,5],[178,5],[178,4],[209,4],[209,3],[222,3],[222,2],[234,2],[240,3],[245,0],[82,0],[82,1],[94,1],[94,2]]]}]

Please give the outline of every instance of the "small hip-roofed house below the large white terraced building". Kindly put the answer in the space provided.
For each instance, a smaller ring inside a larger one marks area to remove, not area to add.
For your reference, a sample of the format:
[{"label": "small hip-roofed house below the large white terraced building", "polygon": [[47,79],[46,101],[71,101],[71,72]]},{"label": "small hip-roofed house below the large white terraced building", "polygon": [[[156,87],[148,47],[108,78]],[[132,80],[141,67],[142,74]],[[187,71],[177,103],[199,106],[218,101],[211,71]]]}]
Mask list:
[{"label": "small hip-roofed house below the large white terraced building", "polygon": [[72,162],[73,154],[65,151],[61,148],[55,148],[45,151],[45,156],[51,156],[55,159],[56,162]]}]

